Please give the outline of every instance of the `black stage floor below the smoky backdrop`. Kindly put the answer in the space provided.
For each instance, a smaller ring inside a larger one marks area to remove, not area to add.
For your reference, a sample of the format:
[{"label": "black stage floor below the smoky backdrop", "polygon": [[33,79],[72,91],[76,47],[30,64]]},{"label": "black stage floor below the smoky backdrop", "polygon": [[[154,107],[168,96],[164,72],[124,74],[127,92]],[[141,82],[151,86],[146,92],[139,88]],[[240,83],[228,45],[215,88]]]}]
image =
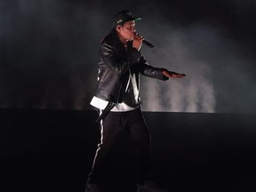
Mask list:
[{"label": "black stage floor below the smoky backdrop", "polygon": [[[144,116],[153,180],[160,186],[173,192],[256,190],[255,114]],[[100,134],[96,118],[93,110],[0,109],[0,190],[82,192]],[[122,132],[109,164],[112,174],[126,179],[134,171],[130,144]]]}]

